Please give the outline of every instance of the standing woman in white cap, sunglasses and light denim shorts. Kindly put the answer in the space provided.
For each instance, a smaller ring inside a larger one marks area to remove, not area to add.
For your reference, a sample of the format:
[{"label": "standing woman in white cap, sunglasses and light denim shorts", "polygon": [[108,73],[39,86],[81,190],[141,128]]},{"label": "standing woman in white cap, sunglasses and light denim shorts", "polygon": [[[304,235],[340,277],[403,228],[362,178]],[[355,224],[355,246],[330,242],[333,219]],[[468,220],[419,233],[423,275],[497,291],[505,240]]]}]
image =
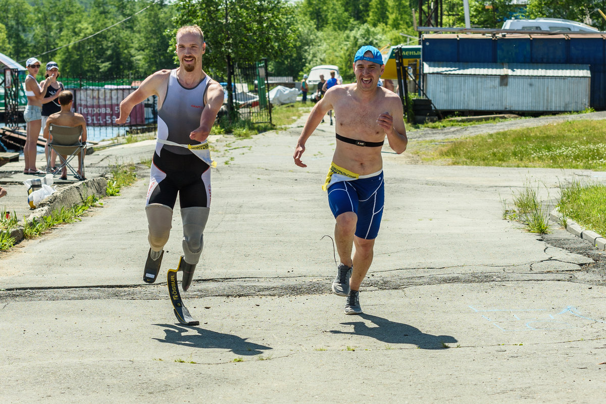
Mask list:
[{"label": "standing woman in white cap, sunglasses and light denim shorts", "polygon": [[[44,175],[46,172],[36,168],[36,148],[38,147],[38,137],[42,128],[42,104],[56,99],[59,94],[45,98],[46,90],[50,81],[39,86],[36,80],[36,74],[40,70],[40,61],[35,57],[30,57],[25,62],[28,75],[25,78],[25,95],[27,96],[27,106],[23,118],[25,119],[25,146],[23,147],[23,159],[25,160],[25,169],[23,174]],[[51,76],[56,73],[51,73]]]}]

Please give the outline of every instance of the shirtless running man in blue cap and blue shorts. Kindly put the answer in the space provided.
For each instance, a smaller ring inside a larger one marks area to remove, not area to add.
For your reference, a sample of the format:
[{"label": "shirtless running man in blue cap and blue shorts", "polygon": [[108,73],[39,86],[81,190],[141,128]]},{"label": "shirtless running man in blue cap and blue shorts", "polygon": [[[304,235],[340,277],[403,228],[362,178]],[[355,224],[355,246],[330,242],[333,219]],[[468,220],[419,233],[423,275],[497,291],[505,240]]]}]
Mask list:
[{"label": "shirtless running man in blue cap and blue shorts", "polygon": [[[356,82],[330,88],[310,112],[295,149],[295,164],[307,167],[301,156],[305,142],[330,109],[335,110],[336,148],[322,189],[335,215],[335,242],[341,264],[332,285],[347,296],[345,314],[362,313],[359,289],[373,260],[384,203],[381,146],[387,142],[400,154],[408,139],[399,97],[378,87],[385,66],[379,50],[361,47],[353,62]],[[355,250],[353,250],[355,246]],[[351,253],[353,252],[353,256]]]}]

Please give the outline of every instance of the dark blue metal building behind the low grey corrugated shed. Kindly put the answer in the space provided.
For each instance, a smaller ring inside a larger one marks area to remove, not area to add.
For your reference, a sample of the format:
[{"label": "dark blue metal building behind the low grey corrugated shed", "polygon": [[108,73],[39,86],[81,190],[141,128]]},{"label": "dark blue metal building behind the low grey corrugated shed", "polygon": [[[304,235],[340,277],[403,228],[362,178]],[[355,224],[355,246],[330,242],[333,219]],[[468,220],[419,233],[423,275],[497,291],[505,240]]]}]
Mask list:
[{"label": "dark blue metal building behind the low grey corrugated shed", "polygon": [[590,106],[606,109],[606,34],[425,34],[423,62],[587,64]]}]

